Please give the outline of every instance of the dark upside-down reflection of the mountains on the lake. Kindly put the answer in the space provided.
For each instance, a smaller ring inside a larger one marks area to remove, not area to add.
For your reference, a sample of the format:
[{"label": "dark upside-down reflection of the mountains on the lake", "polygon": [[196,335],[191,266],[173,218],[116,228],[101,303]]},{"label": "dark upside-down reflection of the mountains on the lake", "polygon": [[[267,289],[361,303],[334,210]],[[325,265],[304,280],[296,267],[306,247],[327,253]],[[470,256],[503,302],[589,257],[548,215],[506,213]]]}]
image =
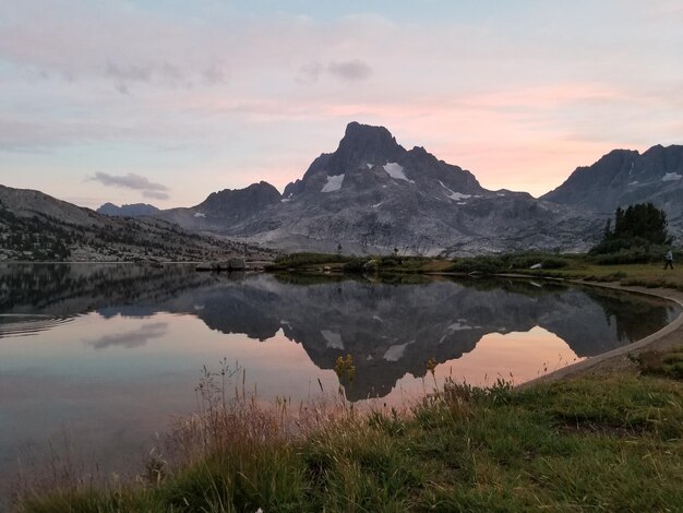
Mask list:
[{"label": "dark upside-down reflection of the mountains on the lake", "polygon": [[[320,369],[334,369],[339,356],[351,355],[356,375],[346,394],[357,401],[385,396],[407,373],[423,377],[430,358],[444,362],[472,351],[487,334],[540,326],[583,358],[642,338],[678,315],[657,299],[558,283],[422,282],[201,274],[188,265],[4,265],[0,337],[15,334],[22,315],[39,315],[38,331],[50,327],[45,318],[63,322],[91,311],[104,319],[191,315],[211,330],[261,342],[281,330]],[[29,334],[29,325],[22,334]],[[87,346],[133,349],[172,329],[151,320]]]}]

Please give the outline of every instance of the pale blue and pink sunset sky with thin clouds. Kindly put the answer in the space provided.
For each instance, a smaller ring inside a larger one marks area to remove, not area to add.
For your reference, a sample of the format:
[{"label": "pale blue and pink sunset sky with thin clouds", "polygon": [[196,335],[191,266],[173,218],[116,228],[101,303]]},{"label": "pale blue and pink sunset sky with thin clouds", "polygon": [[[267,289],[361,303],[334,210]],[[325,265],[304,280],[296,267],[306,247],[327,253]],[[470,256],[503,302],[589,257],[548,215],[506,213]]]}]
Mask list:
[{"label": "pale blue and pink sunset sky with thin clouds", "polygon": [[280,191],[350,121],[538,196],[683,143],[681,0],[0,0],[0,183]]}]

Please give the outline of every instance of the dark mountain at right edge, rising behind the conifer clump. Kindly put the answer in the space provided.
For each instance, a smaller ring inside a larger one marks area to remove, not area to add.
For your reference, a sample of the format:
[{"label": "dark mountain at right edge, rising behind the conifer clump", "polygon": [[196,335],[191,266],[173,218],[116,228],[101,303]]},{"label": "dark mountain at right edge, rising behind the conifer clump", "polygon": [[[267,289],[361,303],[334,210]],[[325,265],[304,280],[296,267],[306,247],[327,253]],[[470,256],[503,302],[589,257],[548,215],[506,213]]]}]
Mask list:
[{"label": "dark mountain at right edge, rising behind the conifer clump", "polygon": [[642,155],[614,150],[591,166],[578,167],[541,199],[604,214],[651,202],[667,212],[670,231],[683,235],[683,146],[657,145]]}]

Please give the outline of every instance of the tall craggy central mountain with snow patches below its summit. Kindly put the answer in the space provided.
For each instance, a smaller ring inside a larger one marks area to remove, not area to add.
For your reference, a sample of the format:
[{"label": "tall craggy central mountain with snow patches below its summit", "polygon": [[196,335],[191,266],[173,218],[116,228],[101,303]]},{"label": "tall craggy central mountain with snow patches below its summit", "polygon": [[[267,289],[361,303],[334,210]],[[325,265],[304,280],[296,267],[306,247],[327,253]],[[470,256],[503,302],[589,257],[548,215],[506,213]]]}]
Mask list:
[{"label": "tall craggy central mountain with snow patches below its summit", "polygon": [[[406,150],[384,127],[351,122],[337,150],[322,154],[283,198],[255,186],[259,208],[226,191],[163,218],[284,250],[476,254],[522,249],[588,249],[602,223],[525,192],[490,191],[423,147]],[[249,189],[249,188],[248,188]],[[235,195],[242,191],[228,191]],[[261,198],[261,195],[259,196]],[[228,205],[230,205],[228,207]],[[579,236],[580,234],[580,236]]]}]

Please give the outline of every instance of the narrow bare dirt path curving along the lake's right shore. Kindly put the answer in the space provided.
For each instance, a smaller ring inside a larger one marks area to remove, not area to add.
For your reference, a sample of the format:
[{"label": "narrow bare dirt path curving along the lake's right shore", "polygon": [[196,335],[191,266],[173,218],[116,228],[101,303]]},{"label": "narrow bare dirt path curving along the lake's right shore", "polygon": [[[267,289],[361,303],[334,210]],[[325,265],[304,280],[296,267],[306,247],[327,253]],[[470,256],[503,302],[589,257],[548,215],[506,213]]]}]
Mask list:
[{"label": "narrow bare dirt path curving along the lake's right shore", "polygon": [[[570,283],[576,283],[584,286],[589,285],[601,288],[611,288],[614,290],[624,290],[647,296],[657,296],[674,301],[683,307],[683,293],[668,288],[623,287],[619,284],[588,283],[578,281]],[[602,355],[579,361],[578,363],[558,369],[554,372],[550,372],[531,381],[527,381],[526,383],[522,383],[518,387],[524,389],[536,383],[551,382],[582,374],[607,374],[628,370],[633,370],[635,372],[637,366],[631,357],[645,350],[667,349],[674,345],[683,345],[683,313],[681,313],[681,315],[679,315],[671,324],[662,327],[649,336],[646,336],[645,338],[634,342],[633,344],[628,344],[611,351],[603,353]]]}]

